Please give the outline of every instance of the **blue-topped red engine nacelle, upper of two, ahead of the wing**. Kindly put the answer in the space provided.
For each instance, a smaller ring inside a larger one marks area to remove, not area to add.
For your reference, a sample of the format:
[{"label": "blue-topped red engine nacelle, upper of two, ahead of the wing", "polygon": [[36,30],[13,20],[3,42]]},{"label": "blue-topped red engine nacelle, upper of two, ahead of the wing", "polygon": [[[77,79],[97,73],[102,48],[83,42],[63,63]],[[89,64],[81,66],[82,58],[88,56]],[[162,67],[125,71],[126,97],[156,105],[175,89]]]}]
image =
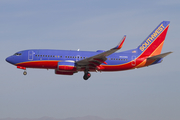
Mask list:
[{"label": "blue-topped red engine nacelle, upper of two, ahead of the wing", "polygon": [[58,71],[66,71],[66,72],[75,72],[76,71],[76,66],[74,62],[58,62],[57,66]]}]

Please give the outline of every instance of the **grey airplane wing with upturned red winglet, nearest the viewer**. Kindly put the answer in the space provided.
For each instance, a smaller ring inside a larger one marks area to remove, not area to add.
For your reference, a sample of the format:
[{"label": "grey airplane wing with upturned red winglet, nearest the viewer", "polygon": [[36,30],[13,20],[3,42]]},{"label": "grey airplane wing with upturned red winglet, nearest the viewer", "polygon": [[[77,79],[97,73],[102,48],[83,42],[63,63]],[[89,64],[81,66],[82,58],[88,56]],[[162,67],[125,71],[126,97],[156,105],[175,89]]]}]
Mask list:
[{"label": "grey airplane wing with upturned red winglet, nearest the viewer", "polygon": [[85,68],[85,69],[89,69],[89,68],[97,68],[100,69],[100,67],[98,67],[100,64],[104,63],[107,64],[105,61],[107,60],[107,56],[111,55],[112,53],[116,52],[117,50],[121,49],[123,46],[123,43],[126,39],[126,35],[124,35],[124,37],[121,39],[121,41],[119,42],[119,44],[108,50],[105,51],[103,53],[97,54],[95,56],[80,60],[76,62],[77,68]]}]

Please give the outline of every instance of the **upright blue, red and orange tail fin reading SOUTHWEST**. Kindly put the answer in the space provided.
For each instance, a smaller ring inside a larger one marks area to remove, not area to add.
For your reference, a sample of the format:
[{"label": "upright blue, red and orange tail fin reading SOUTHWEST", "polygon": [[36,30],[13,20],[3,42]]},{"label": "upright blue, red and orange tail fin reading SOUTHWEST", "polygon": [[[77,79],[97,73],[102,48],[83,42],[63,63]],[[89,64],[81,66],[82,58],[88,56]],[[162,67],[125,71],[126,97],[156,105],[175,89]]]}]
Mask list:
[{"label": "upright blue, red and orange tail fin reading SOUTHWEST", "polygon": [[138,46],[142,56],[155,56],[161,53],[170,21],[161,22],[157,28]]}]

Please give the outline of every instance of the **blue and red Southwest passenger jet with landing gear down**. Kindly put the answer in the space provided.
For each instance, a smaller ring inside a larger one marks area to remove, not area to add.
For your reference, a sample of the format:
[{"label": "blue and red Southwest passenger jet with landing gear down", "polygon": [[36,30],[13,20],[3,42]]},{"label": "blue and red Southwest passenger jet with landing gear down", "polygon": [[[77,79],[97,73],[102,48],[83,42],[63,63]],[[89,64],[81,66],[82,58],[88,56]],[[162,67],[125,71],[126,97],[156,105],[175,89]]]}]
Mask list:
[{"label": "blue and red Southwest passenger jet with landing gear down", "polygon": [[[126,35],[119,44],[107,51],[73,51],[52,49],[29,49],[16,52],[6,61],[19,69],[26,68],[54,69],[58,75],[73,75],[84,71],[84,80],[90,72],[110,72],[141,68],[161,63],[172,52],[161,54],[170,21],[162,21],[156,29],[135,49],[116,52],[122,48]],[[116,53],[115,53],[116,52]]]}]

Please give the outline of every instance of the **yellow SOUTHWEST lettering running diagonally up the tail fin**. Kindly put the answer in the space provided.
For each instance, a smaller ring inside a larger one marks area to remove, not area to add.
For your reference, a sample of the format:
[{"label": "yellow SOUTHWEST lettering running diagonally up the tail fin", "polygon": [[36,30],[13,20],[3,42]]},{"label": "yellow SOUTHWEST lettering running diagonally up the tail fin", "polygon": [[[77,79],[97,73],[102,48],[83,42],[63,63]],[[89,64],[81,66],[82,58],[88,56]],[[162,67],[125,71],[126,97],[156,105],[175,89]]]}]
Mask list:
[{"label": "yellow SOUTHWEST lettering running diagonally up the tail fin", "polygon": [[148,39],[139,47],[141,51],[144,51],[157,37],[158,35],[164,30],[163,24],[161,24],[149,37]]}]

